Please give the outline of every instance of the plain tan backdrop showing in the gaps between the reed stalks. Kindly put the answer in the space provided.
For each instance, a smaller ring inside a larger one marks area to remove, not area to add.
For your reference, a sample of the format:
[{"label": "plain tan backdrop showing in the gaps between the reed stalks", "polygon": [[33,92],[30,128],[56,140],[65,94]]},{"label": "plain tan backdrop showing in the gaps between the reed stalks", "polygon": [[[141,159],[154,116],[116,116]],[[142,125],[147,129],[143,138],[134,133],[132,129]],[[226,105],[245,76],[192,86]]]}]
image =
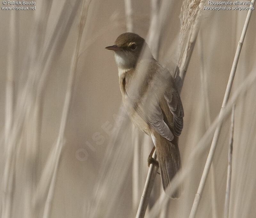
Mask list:
[{"label": "plain tan backdrop showing in the gaps between the reed stalks", "polygon": [[[70,10],[74,2],[69,1]],[[44,1],[36,1],[36,11],[14,12],[17,25],[15,28],[15,45],[17,47],[15,48],[15,55],[11,58],[11,65],[14,67],[14,111],[19,111],[19,106],[16,103],[19,93],[21,93],[22,87],[25,86],[27,81],[28,66],[33,67],[35,65],[35,59],[28,59],[28,56],[33,54],[32,50],[38,44],[32,39],[35,32],[38,31],[36,20],[42,16],[40,10],[42,10],[44,4]],[[63,1],[53,1],[50,11],[48,11],[49,19],[42,43],[49,42],[52,37],[63,5]],[[178,49],[180,31],[180,7],[181,2],[175,4],[172,14],[166,15],[167,19],[160,43],[158,61],[169,68],[170,71],[172,71],[173,62],[175,63],[177,60],[176,51]],[[132,1],[132,9],[134,32],[146,38],[151,17],[150,4],[144,0]],[[49,185],[45,182],[45,192],[40,195],[36,206],[34,204],[34,196],[48,156],[55,146],[60,128],[68,75],[78,36],[80,11],[81,5],[70,31],[65,33],[67,34],[66,42],[61,44],[60,51],[56,51],[57,57],[50,68],[49,77],[44,87],[42,114],[40,115],[42,118],[40,142],[37,145],[26,142],[26,136],[24,135],[33,133],[33,126],[30,126],[31,121],[26,122],[26,120],[21,128],[26,129],[26,131],[24,130],[25,133],[21,134],[20,139],[16,141],[12,217],[28,217],[27,214],[33,214],[31,215],[32,217],[42,217],[43,215]],[[207,129],[205,127],[206,107],[201,89],[200,66],[202,63],[204,64],[203,73],[207,76],[209,113],[212,122],[218,115],[221,107],[246,13],[247,11],[204,11],[201,30],[181,92],[185,113],[184,129],[179,142],[183,166],[189,164],[186,162],[187,157]],[[244,78],[249,73],[255,72],[256,69],[255,16],[253,11],[232,93],[238,85],[243,83]],[[4,145],[6,74],[8,69],[10,69],[8,68],[8,53],[12,43],[14,43],[10,38],[11,11],[1,10],[0,19],[0,130],[2,133],[1,147],[3,150],[0,155],[0,172],[3,175],[7,157]],[[63,17],[63,23],[65,19],[66,17]],[[113,114],[118,113],[121,105],[121,94],[118,87],[114,55],[104,48],[112,45],[119,34],[126,32],[125,25],[124,1],[92,1],[80,47],[74,92],[72,93],[65,128],[65,146],[61,153],[57,171],[50,217],[134,217],[136,213],[136,202],[132,200],[133,146],[128,143],[128,146],[131,146],[131,148],[124,150],[127,153],[123,154],[123,156],[127,157],[127,159],[123,158],[123,162],[119,162],[120,160],[117,159],[115,162],[115,158],[119,153],[115,156],[115,150],[109,151],[107,149],[116,149],[116,147],[109,145],[111,137],[102,128],[104,124],[115,124]],[[198,43],[201,43],[203,48],[203,59],[200,59]],[[36,51],[37,55],[42,53],[43,49]],[[40,66],[39,69],[43,67]],[[40,76],[42,72],[38,70],[34,73]],[[31,91],[31,99],[33,99],[34,94]],[[26,98],[30,98],[30,96],[26,96]],[[222,216],[224,208],[229,120],[229,118],[225,120],[213,159],[216,176],[217,217]],[[129,120],[126,122],[129,122]],[[16,125],[15,122],[13,125]],[[130,139],[131,133],[128,129],[130,127],[127,127],[127,131],[122,129],[119,134],[127,134],[128,139]],[[253,167],[255,166],[255,130],[254,83],[247,94],[242,96],[236,103],[230,217],[254,217],[256,214],[254,207],[256,203],[254,187],[256,177]],[[97,133],[101,136],[101,142],[100,140],[93,140]],[[104,137],[104,142],[102,136]],[[124,137],[120,136],[120,146],[125,145],[122,140],[124,140]],[[36,157],[33,157],[33,160],[36,159],[36,162],[31,161],[32,167],[30,168],[27,163],[29,162],[29,154],[33,150],[33,146],[37,146],[38,153]],[[169,213],[172,215],[170,217],[188,217],[209,146],[210,143],[206,151],[195,160],[195,167],[193,167],[193,171],[191,171],[186,179],[184,194],[180,200],[170,201]],[[143,157],[143,160],[141,159],[140,161],[141,184],[140,193],[137,193],[138,196],[141,195],[141,189],[146,179],[148,169],[146,159],[151,145],[143,145],[143,148],[140,151],[140,156]],[[122,149],[120,152],[122,153]],[[36,165],[34,165],[35,163]],[[113,171],[114,169],[108,167],[112,166],[111,164],[116,165],[117,168],[120,167],[120,171],[123,171],[124,175],[117,174],[116,171]],[[106,170],[103,173],[104,166]],[[28,175],[35,176],[32,183],[34,186],[32,185],[30,188],[29,184],[31,183],[28,182],[30,178]],[[46,173],[46,175],[51,178],[50,173]],[[159,176],[157,177],[156,199],[158,197],[158,190],[162,189],[159,183]],[[108,180],[108,178],[112,178],[114,182]],[[44,181],[44,178],[41,179]],[[45,181],[47,181],[47,178],[45,178]],[[99,189],[100,192],[96,191],[98,185],[101,188]],[[113,191],[112,188],[115,187],[116,189],[113,189]],[[3,193],[4,188],[2,188],[1,197],[4,196]],[[94,196],[95,193],[97,196]],[[30,196],[28,199],[31,200],[28,200],[28,203],[26,203],[27,195]],[[31,203],[29,210],[34,212],[26,212],[27,208],[29,208],[26,205],[28,206],[29,202]],[[197,214],[197,217],[212,217],[210,178],[207,180]]]}]

